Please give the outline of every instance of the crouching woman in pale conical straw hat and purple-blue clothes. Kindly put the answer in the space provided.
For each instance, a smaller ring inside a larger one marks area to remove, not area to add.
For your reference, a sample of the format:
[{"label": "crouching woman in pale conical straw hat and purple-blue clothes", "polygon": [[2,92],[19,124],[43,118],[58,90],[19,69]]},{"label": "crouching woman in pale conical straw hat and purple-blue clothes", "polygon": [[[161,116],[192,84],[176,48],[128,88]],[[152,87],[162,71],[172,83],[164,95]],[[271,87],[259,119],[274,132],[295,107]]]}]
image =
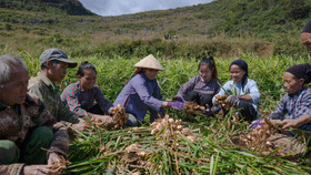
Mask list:
[{"label": "crouching woman in pale conical straw hat and purple-blue clothes", "polygon": [[134,66],[138,68],[136,74],[129,80],[121,93],[118,95],[113,105],[122,105],[129,113],[128,126],[140,125],[147,111],[150,109],[150,123],[158,119],[158,112],[164,116],[163,107],[170,106],[177,110],[183,107],[182,102],[164,102],[156,76],[159,71],[164,71],[160,62],[152,55],[139,61]]}]

